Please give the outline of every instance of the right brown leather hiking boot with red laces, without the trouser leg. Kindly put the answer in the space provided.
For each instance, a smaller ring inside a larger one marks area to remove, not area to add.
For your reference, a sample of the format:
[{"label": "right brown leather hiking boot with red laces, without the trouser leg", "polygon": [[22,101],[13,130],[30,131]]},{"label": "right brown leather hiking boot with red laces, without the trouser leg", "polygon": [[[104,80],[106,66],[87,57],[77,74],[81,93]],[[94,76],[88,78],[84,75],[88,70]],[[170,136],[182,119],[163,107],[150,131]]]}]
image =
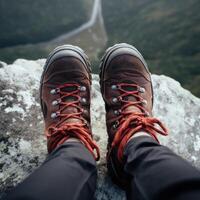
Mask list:
[{"label": "right brown leather hiking boot with red laces, without the trouser leg", "polygon": [[123,170],[126,160],[123,152],[129,139],[144,131],[158,141],[157,133],[167,135],[167,130],[152,117],[151,75],[135,47],[123,43],[106,51],[101,63],[100,86],[106,107],[108,170],[114,182],[126,187],[129,177]]}]

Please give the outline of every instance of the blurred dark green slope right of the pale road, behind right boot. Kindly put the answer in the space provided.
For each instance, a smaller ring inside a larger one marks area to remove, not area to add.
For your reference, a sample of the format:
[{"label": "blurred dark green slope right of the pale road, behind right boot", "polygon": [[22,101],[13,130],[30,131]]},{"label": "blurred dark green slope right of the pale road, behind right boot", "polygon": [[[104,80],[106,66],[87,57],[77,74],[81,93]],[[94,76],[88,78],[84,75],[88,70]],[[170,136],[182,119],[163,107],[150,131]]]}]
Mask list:
[{"label": "blurred dark green slope right of the pale road, behind right boot", "polygon": [[200,96],[199,0],[103,0],[109,45],[128,42],[150,70]]}]

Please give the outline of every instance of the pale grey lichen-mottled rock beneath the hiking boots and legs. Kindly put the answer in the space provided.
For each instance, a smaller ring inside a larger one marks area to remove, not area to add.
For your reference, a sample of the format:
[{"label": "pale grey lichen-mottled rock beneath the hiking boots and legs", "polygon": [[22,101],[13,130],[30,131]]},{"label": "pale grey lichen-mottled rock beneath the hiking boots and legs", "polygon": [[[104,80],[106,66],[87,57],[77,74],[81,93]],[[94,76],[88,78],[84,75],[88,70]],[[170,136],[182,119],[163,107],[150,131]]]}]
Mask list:
[{"label": "pale grey lichen-mottled rock beneath the hiking boots and legs", "polygon": [[[45,60],[0,62],[0,197],[38,167],[46,156],[46,140],[39,105],[39,82]],[[200,168],[200,100],[178,82],[153,75],[154,115],[170,129],[161,143]],[[106,176],[104,103],[98,76],[93,75],[92,126],[101,147],[98,200],[125,199]]]}]

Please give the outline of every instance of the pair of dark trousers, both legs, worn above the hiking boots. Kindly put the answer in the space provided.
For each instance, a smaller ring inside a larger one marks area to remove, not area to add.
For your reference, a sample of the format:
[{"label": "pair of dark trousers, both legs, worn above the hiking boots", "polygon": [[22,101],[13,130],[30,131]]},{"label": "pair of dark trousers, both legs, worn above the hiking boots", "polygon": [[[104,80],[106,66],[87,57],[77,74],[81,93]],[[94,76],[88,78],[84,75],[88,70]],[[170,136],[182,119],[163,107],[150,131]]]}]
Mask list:
[{"label": "pair of dark trousers, both legs, worn above the hiking boots", "polygon": [[[124,152],[132,177],[127,199],[200,200],[200,172],[148,136],[132,139]],[[79,142],[66,142],[19,184],[6,199],[90,200],[96,189],[96,163]]]}]

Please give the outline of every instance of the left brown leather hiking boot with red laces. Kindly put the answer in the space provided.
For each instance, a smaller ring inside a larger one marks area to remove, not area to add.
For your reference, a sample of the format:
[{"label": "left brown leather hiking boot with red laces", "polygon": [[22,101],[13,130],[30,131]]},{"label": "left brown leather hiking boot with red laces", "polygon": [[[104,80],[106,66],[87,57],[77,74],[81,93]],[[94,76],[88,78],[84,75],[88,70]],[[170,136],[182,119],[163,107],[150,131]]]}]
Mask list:
[{"label": "left brown leather hiking boot with red laces", "polygon": [[88,57],[79,47],[64,45],[49,55],[40,85],[49,153],[76,138],[99,159],[90,127],[90,72]]}]

